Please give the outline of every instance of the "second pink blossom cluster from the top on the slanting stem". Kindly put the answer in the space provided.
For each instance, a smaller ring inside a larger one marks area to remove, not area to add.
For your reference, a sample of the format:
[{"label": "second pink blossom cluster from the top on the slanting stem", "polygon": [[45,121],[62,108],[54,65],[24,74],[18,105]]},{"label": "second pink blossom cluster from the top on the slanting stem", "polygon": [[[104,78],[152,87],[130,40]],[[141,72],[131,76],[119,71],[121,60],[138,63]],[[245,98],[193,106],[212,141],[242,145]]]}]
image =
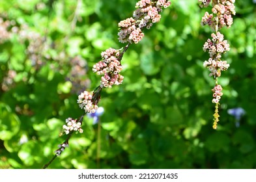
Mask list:
[{"label": "second pink blossom cluster from the top on the slanting stem", "polygon": [[109,48],[101,53],[102,61],[94,64],[92,71],[101,77],[100,86],[111,88],[112,85],[120,85],[124,77],[119,73],[122,71],[122,65],[119,61],[120,51]]}]

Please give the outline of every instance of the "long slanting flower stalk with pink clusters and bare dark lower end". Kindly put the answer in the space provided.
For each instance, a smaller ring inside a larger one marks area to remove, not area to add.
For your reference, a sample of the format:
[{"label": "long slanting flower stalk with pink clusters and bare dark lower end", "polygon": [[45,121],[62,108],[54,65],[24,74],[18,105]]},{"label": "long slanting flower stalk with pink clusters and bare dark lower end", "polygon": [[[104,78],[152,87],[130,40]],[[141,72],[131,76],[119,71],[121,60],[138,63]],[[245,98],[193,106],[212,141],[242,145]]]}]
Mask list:
[{"label": "long slanting flower stalk with pink clusters and bare dark lower end", "polygon": [[[102,51],[102,60],[94,64],[92,72],[97,75],[102,75],[100,78],[100,85],[93,91],[83,91],[78,96],[78,105],[81,109],[85,110],[85,113],[94,113],[98,109],[98,102],[100,101],[100,93],[103,88],[111,88],[113,85],[121,85],[124,79],[120,73],[122,71],[122,56],[130,46],[130,44],[139,43],[144,37],[143,29],[150,29],[153,23],[160,21],[163,8],[167,8],[171,5],[168,0],[141,0],[135,5],[136,10],[131,18],[124,19],[118,23],[119,32],[118,40],[121,43],[127,43],[121,49],[109,48],[106,51]],[[51,162],[68,147],[68,140],[73,133],[82,133],[81,129],[83,114],[78,120],[68,118],[66,119],[66,125],[63,125],[63,134],[68,135],[66,140],[59,145],[59,149],[55,151],[55,156],[50,162],[44,165],[43,168],[47,168]],[[62,135],[63,135],[62,134]]]}]

